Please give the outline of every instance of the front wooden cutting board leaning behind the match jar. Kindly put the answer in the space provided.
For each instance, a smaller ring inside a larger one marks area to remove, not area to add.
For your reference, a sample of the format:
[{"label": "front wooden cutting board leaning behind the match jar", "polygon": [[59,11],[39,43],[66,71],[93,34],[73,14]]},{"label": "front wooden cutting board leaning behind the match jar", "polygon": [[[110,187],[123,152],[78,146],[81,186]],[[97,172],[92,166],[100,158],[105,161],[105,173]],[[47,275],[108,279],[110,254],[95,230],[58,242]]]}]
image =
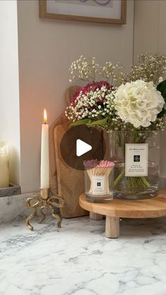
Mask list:
[{"label": "front wooden cutting board leaning behind the match jar", "polygon": [[[65,163],[65,161],[63,161],[60,153],[60,141],[65,132],[68,131],[68,128],[69,123],[65,123],[56,126],[53,132],[56,151],[58,194],[65,200],[63,208],[60,208],[60,214],[63,218],[88,215],[88,212],[79,206],[79,195],[84,192],[84,171],[71,168]],[[68,157],[70,157],[70,148],[69,146],[66,146]]]}]

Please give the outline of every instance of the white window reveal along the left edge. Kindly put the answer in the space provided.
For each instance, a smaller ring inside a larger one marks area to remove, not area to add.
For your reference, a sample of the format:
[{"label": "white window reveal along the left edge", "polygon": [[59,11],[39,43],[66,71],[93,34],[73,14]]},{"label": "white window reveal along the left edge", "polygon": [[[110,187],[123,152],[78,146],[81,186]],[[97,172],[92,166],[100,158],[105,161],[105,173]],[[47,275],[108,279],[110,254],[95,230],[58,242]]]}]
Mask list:
[{"label": "white window reveal along the left edge", "polygon": [[0,140],[10,144],[10,181],[20,184],[17,1],[0,1]]}]

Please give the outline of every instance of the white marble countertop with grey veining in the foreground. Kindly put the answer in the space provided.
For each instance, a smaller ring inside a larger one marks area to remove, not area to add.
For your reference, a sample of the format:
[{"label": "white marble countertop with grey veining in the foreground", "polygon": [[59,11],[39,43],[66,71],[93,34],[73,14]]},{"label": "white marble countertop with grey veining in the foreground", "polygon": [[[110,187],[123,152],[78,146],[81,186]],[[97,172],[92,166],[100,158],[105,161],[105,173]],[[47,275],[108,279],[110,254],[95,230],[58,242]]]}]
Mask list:
[{"label": "white marble countertop with grey veining in the foreground", "polygon": [[104,220],[50,218],[0,225],[1,295],[165,295],[166,218],[122,220],[118,239]]}]

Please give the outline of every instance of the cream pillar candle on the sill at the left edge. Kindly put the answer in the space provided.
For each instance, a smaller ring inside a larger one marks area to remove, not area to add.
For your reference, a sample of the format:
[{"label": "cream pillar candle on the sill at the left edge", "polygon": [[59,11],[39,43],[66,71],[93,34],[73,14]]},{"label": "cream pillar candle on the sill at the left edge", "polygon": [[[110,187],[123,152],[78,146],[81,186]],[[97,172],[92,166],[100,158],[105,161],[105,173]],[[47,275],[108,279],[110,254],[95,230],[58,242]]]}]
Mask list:
[{"label": "cream pillar candle on the sill at the left edge", "polygon": [[5,142],[0,144],[0,187],[9,187],[8,150]]}]

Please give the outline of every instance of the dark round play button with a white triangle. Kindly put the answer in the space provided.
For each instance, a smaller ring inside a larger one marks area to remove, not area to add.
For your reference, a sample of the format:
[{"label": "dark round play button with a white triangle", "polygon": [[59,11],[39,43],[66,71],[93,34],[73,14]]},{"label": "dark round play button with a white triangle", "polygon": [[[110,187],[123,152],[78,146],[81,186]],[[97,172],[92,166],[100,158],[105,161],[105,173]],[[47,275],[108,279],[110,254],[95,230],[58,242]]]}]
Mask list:
[{"label": "dark round play button with a white triangle", "polygon": [[77,170],[84,170],[84,161],[103,160],[106,143],[103,130],[84,125],[70,127],[60,142],[60,153],[65,164]]}]

